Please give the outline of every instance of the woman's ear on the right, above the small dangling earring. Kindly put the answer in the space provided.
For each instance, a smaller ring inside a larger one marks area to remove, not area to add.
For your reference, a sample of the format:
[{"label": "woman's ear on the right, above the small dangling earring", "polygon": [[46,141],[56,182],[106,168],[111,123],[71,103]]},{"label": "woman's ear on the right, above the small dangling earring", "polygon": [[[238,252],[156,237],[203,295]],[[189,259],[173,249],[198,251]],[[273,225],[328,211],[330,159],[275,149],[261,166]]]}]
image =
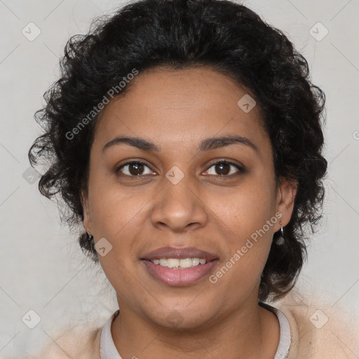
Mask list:
[{"label": "woman's ear on the right, above the small dangling earring", "polygon": [[[286,226],[288,222],[290,222],[290,217],[292,217],[292,212],[294,208],[294,198],[297,195],[297,187],[298,182],[287,179],[285,177],[280,177],[280,185],[278,188],[277,194],[277,206],[276,212],[280,212],[282,217],[280,218],[280,222],[282,222],[282,226]],[[278,231],[280,229],[280,225],[278,222]]]}]

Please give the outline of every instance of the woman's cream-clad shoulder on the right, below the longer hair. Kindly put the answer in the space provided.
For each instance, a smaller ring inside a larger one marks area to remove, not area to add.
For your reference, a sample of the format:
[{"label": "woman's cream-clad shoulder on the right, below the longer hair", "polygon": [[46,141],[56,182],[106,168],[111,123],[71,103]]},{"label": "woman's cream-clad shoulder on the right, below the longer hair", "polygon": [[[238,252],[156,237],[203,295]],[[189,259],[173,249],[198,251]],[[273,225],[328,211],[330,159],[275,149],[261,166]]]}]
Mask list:
[{"label": "woman's cream-clad shoulder on the right, below the longer hair", "polygon": [[288,359],[348,359],[358,355],[358,316],[295,290],[272,305],[283,312],[290,324]]}]

